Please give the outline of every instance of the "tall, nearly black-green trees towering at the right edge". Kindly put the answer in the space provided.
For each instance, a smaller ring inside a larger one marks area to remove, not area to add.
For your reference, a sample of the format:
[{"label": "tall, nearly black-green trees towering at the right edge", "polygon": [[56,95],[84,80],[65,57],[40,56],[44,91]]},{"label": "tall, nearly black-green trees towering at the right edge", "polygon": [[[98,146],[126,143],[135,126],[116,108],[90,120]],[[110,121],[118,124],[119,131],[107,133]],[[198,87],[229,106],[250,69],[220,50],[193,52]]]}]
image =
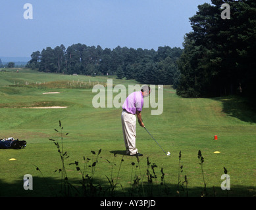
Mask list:
[{"label": "tall, nearly black-green trees towering at the right edge", "polygon": [[[255,98],[256,1],[212,0],[190,18],[178,61],[177,93],[185,97],[246,95]],[[222,19],[223,3],[230,19]]]}]

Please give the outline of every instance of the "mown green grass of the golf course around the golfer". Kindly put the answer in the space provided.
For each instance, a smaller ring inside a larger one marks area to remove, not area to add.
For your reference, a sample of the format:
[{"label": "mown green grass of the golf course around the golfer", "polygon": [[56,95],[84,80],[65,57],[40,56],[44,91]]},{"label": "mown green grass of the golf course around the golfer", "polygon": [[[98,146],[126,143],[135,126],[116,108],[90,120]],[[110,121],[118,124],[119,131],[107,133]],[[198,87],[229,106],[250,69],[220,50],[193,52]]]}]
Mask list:
[{"label": "mown green grass of the golf course around the golfer", "polygon": [[[138,175],[140,188],[133,189],[140,196],[186,196],[182,190],[179,190],[180,194],[176,192],[178,156],[181,151],[180,164],[183,165],[183,171],[179,180],[183,182],[186,175],[188,196],[201,196],[204,186],[197,158],[201,150],[208,196],[227,196],[227,193],[228,196],[255,196],[256,116],[247,108],[243,98],[181,98],[170,86],[165,86],[163,114],[153,116],[151,108],[143,108],[142,117],[148,131],[166,152],[170,151],[171,156],[166,156],[145,129],[137,125],[136,146],[143,157],[140,158],[140,167],[136,168],[138,161],[135,157],[123,156],[121,108],[93,108],[91,101],[95,93],[91,92],[90,87],[54,86],[63,84],[63,81],[80,83],[90,80],[95,84],[103,84],[107,79],[113,79],[114,85],[123,84],[126,87],[136,83],[115,77],[44,74],[26,69],[19,73],[8,69],[7,72],[0,72],[0,138],[14,137],[28,142],[24,150],[0,150],[0,196],[54,196],[53,191],[58,192],[61,173],[55,171],[61,168],[61,159],[49,138],[61,139],[60,133],[54,131],[59,130],[59,120],[64,127],[63,132],[68,133],[63,138],[64,151],[69,156],[65,159],[68,180],[78,189],[82,175],[75,165],[69,163],[78,161],[82,168],[85,157],[91,159],[88,162],[90,165],[96,158],[91,150],[97,154],[101,149],[98,162],[93,168],[95,185],[101,183],[108,188],[111,184],[107,177],[112,177],[113,182],[118,183],[115,196],[123,196],[124,193],[128,196],[127,192]],[[39,87],[37,82],[47,85]],[[60,94],[43,95],[49,91]],[[42,105],[68,108],[23,108]],[[213,140],[214,135],[218,136],[218,140]],[[220,154],[214,154],[215,151]],[[147,157],[151,164],[157,165],[154,168],[157,179],[153,179],[149,185],[153,185],[153,191],[147,188],[147,169],[153,174],[147,165]],[[16,161],[9,161],[10,158]],[[36,170],[35,165],[43,175]],[[87,173],[91,175],[92,167],[88,165]],[[162,167],[166,186],[160,184]],[[220,188],[223,167],[230,175],[231,190],[228,192]],[[23,189],[22,179],[25,174],[33,176],[33,190]],[[46,183],[54,190],[49,191]],[[142,186],[145,187],[144,192]]]}]

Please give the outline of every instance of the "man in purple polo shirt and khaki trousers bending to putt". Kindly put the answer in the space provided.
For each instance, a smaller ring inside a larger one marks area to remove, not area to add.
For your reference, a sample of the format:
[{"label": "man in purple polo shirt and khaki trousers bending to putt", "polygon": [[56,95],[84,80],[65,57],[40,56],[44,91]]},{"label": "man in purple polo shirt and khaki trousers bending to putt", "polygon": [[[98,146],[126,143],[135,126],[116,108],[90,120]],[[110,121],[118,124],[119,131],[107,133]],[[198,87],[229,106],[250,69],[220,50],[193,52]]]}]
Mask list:
[{"label": "man in purple polo shirt and khaki trousers bending to putt", "polygon": [[143,86],[140,91],[131,93],[122,105],[122,133],[126,154],[130,156],[143,156],[136,148],[136,116],[141,127],[145,127],[141,119],[143,97],[149,96],[150,87]]}]

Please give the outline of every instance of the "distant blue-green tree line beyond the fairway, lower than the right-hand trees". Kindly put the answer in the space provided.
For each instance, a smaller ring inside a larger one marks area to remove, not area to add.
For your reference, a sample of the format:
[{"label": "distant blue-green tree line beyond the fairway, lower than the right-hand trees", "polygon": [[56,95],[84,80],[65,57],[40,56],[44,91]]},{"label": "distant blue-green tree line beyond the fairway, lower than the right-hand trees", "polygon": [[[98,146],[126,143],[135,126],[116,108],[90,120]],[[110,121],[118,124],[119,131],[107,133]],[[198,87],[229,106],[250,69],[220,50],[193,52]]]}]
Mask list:
[{"label": "distant blue-green tree line beyond the fairway, lower than the right-hand trees", "polygon": [[178,47],[158,47],[155,51],[118,46],[111,50],[78,43],[36,51],[26,67],[41,72],[116,75],[119,79],[136,79],[141,83],[176,85],[180,54],[182,49]]}]

